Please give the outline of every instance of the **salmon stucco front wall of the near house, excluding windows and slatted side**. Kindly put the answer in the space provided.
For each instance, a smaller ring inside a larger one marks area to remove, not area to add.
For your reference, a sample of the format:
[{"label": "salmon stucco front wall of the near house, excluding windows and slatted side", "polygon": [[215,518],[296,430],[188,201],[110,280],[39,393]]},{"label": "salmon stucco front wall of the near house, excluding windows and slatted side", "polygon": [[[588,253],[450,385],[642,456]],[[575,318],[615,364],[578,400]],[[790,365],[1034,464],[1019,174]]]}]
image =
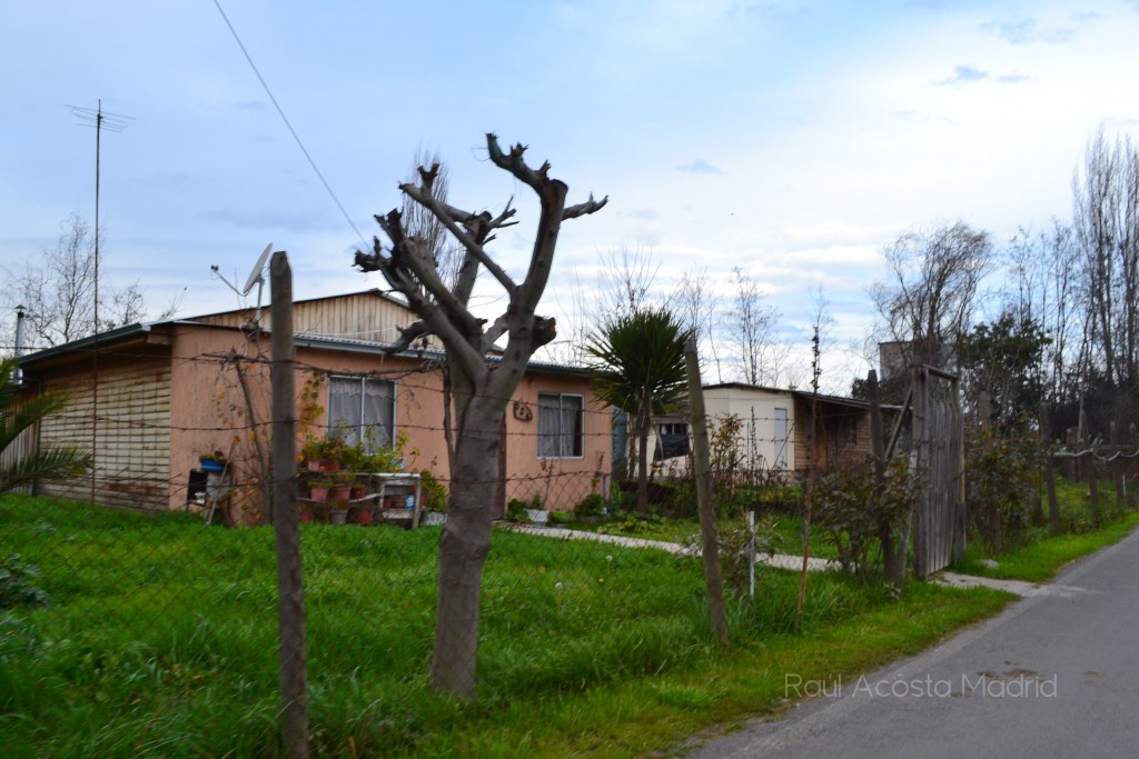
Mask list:
[{"label": "salmon stucco front wall of the near house, excluding windows and slatted side", "polygon": [[[269,371],[264,364],[241,362],[253,401],[251,420],[244,395],[239,394],[235,363],[221,356],[231,350],[238,355],[257,355],[262,350],[268,356],[268,339],[263,337],[262,345],[256,346],[231,329],[179,328],[178,355],[205,357],[174,362],[174,387],[179,402],[173,414],[174,439],[170,455],[175,477],[170,488],[170,508],[185,505],[189,472],[198,467],[198,456],[203,452],[222,449],[235,469],[236,497],[248,502],[246,511],[249,521],[260,517],[260,462],[251,432],[261,437],[268,455]],[[295,388],[301,420],[306,415],[301,396],[306,387],[313,387],[312,378],[317,374],[367,374],[393,381],[396,389],[395,430],[396,434],[407,434],[404,467],[408,470],[429,469],[444,484],[450,480],[443,432],[443,378],[439,370],[423,371],[424,361],[419,358],[323,348],[300,348],[297,366]],[[547,508],[572,509],[592,489],[604,492],[611,471],[612,421],[608,407],[598,404],[590,385],[588,378],[574,374],[527,371],[514,401],[530,410],[531,420],[516,416],[513,402],[507,406],[503,504],[511,497],[528,501],[538,493]],[[308,427],[300,426],[298,449],[306,435],[323,436],[330,421],[327,412],[328,382],[321,379],[314,387],[316,402],[321,410],[316,415],[309,414],[311,423]],[[538,457],[538,394],[547,391],[584,396],[583,456]],[[525,413],[521,415],[525,416]]]}]

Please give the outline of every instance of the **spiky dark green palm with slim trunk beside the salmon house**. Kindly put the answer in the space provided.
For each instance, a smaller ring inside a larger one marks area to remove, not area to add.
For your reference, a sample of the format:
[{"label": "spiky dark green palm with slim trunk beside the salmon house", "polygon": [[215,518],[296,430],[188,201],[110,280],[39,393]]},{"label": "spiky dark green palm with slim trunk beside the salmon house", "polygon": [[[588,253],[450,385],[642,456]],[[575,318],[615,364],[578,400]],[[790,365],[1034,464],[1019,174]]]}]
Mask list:
[{"label": "spiky dark green palm with slim trunk beside the salmon house", "polygon": [[637,509],[648,508],[648,434],[653,418],[674,411],[687,395],[688,331],[666,308],[638,308],[589,336],[595,391],[632,416],[637,436]]}]

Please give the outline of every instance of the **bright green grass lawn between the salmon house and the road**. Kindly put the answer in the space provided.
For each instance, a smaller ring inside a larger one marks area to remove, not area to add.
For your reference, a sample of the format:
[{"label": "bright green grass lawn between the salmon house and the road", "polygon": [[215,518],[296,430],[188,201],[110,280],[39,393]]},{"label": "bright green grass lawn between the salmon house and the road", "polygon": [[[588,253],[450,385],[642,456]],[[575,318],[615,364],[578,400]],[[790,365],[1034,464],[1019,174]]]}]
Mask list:
[{"label": "bright green grass lawn between the salmon house and the road", "polygon": [[[798,578],[769,569],[754,600],[730,597],[724,653],[698,559],[497,530],[480,699],[462,704],[426,684],[439,528],[308,525],[302,543],[321,757],[673,751],[785,708],[788,675],[863,671],[1010,600],[923,584],[891,600],[812,575],[796,633]],[[8,496],[0,559],[13,553],[51,603],[0,612],[5,757],[276,754],[271,530]]]}]

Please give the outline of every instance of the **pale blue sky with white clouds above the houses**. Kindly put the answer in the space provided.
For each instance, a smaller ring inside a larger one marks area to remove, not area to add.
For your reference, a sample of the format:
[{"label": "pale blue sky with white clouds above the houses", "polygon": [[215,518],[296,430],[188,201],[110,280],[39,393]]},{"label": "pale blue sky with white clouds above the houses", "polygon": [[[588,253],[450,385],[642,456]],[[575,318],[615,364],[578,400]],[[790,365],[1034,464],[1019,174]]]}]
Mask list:
[{"label": "pale blue sky with white clouds above the houses", "polygon": [[521,277],[536,203],[487,162],[494,132],[549,160],[570,203],[609,198],[563,226],[540,311],[572,320],[614,251],[650,254],[661,294],[688,272],[729,299],[739,267],[800,355],[821,291],[833,388],[869,368],[846,346],[872,322],[884,246],[962,220],[1000,247],[1068,218],[1096,130],[1139,132],[1136,0],[60,0],[3,16],[0,270],[54,247],[71,213],[93,220],[96,134],[69,106],[101,102],[128,118],[101,133],[100,281],[138,282],[154,312],[237,307],[211,266],[244,282],[269,242],[298,299],[384,287],[352,251],[418,149],[449,165],[452,205],[514,197],[522,223],[491,251]]}]

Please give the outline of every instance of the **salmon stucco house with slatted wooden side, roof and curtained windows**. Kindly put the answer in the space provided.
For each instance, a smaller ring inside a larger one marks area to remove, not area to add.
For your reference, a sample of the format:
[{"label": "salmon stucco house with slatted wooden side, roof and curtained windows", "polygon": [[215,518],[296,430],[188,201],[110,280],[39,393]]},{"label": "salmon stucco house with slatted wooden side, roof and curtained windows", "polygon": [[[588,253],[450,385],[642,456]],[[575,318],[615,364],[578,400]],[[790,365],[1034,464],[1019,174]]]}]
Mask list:
[{"label": "salmon stucco house with slatted wooden side, roof and curtained windows", "polygon": [[[428,469],[446,484],[444,355],[431,344],[385,349],[411,321],[402,302],[379,290],[295,304],[298,440],[336,426],[371,429],[382,443],[405,439],[405,468]],[[233,469],[233,508],[240,520],[256,521],[269,452],[271,330],[268,310],[240,310],[132,324],[25,355],[25,393],[72,396],[32,444],[95,451],[93,477],[42,482],[36,492],[182,509],[199,456],[222,451]],[[547,508],[572,509],[604,492],[611,448],[609,410],[597,402],[589,373],[531,363],[501,432],[497,508],[536,495]]]}]

